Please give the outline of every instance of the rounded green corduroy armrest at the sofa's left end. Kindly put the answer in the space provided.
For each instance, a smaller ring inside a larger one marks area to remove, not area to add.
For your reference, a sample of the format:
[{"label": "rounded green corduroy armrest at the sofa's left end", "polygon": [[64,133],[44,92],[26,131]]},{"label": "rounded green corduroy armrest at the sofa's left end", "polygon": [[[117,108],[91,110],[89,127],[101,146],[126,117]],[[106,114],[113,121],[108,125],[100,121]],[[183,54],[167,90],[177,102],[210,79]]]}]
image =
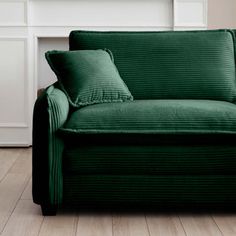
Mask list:
[{"label": "rounded green corduroy armrest at the sofa's left end", "polygon": [[62,202],[64,142],[56,131],[67,120],[69,103],[55,85],[37,99],[33,113],[33,200],[37,204]]}]

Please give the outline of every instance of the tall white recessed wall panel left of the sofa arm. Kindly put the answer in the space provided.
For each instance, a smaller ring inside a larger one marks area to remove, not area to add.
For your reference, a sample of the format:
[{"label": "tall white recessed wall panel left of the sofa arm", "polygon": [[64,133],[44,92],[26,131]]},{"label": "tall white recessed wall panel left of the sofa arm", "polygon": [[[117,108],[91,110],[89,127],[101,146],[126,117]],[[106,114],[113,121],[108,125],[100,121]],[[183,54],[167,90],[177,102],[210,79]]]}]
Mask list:
[{"label": "tall white recessed wall panel left of the sofa arm", "polygon": [[0,127],[27,127],[27,39],[0,38]]}]

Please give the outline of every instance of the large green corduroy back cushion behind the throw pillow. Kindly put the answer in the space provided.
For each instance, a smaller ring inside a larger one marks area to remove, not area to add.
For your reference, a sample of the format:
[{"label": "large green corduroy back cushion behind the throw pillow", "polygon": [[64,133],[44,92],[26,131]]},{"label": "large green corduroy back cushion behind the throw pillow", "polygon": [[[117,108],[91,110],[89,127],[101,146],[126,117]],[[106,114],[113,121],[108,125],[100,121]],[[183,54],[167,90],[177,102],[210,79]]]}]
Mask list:
[{"label": "large green corduroy back cushion behind the throw pillow", "polygon": [[230,31],[73,31],[70,50],[108,48],[134,99],[236,98]]}]

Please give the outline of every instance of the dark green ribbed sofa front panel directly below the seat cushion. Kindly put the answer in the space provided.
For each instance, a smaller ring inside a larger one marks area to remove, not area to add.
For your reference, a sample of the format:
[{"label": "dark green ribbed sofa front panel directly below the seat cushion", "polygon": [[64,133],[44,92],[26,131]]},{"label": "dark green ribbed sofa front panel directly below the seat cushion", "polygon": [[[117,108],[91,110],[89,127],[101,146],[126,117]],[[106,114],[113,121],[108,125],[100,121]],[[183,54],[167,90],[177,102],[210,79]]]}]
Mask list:
[{"label": "dark green ribbed sofa front panel directly below the seat cushion", "polygon": [[81,145],[66,148],[63,171],[65,175],[233,175],[236,172],[236,147]]}]

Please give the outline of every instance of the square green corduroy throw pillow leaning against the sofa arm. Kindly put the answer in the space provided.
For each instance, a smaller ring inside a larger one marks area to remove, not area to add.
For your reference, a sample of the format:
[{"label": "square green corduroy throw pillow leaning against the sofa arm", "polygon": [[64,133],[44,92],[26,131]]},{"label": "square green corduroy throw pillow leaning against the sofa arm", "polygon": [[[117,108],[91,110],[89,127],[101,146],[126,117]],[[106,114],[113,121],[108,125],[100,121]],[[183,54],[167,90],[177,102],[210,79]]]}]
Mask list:
[{"label": "square green corduroy throw pillow leaning against the sofa arm", "polygon": [[45,56],[72,106],[133,100],[110,51],[49,51]]}]

